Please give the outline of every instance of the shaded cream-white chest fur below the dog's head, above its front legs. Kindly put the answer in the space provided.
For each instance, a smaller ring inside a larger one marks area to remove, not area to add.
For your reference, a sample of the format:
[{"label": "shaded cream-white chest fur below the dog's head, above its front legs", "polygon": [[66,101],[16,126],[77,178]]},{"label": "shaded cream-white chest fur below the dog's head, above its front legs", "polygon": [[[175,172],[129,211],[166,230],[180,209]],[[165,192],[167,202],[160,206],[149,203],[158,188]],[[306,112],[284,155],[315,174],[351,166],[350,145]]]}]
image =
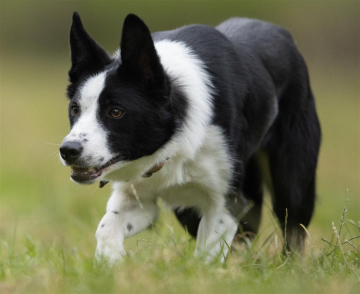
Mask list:
[{"label": "shaded cream-white chest fur below the dog's head, above its front legs", "polygon": [[224,135],[219,127],[209,126],[194,159],[169,158],[152,177],[117,184],[114,188],[126,194],[133,194],[135,189],[139,199],[160,197],[171,207],[203,210],[211,204],[223,206],[231,176],[231,158]]}]

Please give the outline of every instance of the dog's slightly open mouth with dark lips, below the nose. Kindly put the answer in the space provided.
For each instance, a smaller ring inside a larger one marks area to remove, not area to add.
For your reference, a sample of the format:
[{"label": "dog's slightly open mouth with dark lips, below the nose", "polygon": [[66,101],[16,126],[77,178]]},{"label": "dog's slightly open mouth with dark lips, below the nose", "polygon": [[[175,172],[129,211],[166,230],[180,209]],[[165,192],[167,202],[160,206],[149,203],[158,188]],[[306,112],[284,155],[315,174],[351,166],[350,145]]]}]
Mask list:
[{"label": "dog's slightly open mouth with dark lips, below the nose", "polygon": [[111,165],[119,162],[122,160],[122,156],[116,156],[110,159],[107,163],[105,163],[101,167],[78,167],[78,166],[71,166],[71,178],[78,183],[82,184],[91,184],[97,178],[99,178],[103,171],[110,167]]}]

